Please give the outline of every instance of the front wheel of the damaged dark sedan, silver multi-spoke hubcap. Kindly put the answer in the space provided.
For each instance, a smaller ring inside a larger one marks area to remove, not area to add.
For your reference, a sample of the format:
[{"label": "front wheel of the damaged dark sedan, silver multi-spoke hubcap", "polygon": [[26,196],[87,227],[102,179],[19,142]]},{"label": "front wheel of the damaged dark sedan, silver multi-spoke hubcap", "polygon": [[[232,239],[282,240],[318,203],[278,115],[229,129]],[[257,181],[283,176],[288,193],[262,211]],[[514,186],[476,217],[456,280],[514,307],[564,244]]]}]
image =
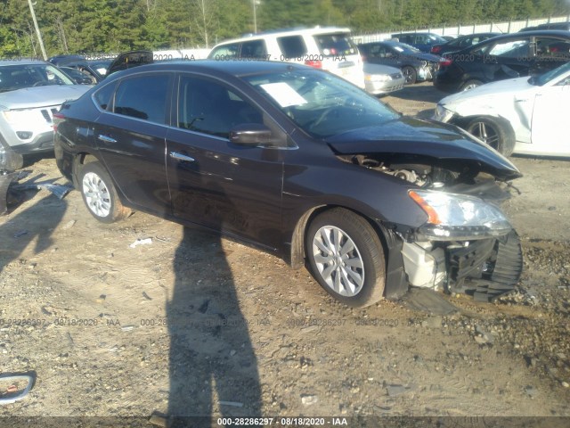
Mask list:
[{"label": "front wheel of the damaged dark sedan, silver multi-spoke hubcap", "polygon": [[323,212],[309,226],[305,251],[314,278],[335,299],[355,308],[382,299],[384,251],[364,218],[341,208]]}]

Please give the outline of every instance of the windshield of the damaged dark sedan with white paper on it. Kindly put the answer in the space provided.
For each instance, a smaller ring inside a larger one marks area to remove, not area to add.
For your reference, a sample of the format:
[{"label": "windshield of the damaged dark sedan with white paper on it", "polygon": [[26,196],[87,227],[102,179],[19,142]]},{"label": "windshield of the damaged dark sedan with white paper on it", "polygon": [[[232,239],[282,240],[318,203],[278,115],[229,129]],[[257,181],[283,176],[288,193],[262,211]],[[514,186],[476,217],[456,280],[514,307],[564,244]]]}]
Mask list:
[{"label": "windshield of the damaged dark sedan with white paper on it", "polygon": [[399,117],[362,89],[321,70],[297,69],[244,79],[316,138],[377,126]]}]

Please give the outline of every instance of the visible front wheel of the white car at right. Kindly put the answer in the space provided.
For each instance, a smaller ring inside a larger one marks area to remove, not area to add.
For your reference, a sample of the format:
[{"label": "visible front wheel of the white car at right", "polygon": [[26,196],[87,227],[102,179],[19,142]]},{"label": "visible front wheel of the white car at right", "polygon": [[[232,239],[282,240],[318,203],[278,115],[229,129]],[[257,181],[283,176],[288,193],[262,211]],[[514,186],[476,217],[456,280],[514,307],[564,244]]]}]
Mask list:
[{"label": "visible front wheel of the white car at right", "polygon": [[510,156],[515,149],[515,131],[505,119],[492,117],[471,119],[466,130],[504,156]]}]

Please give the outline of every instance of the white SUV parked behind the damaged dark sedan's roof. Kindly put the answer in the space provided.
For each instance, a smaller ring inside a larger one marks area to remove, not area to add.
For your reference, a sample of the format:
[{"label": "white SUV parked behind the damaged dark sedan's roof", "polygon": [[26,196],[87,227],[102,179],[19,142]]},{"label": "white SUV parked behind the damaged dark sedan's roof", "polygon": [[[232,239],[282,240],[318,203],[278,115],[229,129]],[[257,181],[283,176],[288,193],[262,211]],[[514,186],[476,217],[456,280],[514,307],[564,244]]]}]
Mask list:
[{"label": "white SUV parked behind the damaged dark sedan's roof", "polygon": [[220,43],[214,46],[208,59],[304,63],[364,87],[362,58],[351,39],[350,29],[316,27],[267,31]]}]

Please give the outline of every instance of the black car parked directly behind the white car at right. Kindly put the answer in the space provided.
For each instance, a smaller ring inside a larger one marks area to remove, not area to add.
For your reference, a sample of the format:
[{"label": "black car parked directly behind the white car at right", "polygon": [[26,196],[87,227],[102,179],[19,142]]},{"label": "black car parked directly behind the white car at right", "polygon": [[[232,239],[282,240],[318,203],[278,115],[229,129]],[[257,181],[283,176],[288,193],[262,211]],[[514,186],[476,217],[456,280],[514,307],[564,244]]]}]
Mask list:
[{"label": "black car parked directly behind the white car at right", "polygon": [[518,32],[445,53],[434,85],[454,93],[495,80],[541,74],[568,61],[570,32]]}]

